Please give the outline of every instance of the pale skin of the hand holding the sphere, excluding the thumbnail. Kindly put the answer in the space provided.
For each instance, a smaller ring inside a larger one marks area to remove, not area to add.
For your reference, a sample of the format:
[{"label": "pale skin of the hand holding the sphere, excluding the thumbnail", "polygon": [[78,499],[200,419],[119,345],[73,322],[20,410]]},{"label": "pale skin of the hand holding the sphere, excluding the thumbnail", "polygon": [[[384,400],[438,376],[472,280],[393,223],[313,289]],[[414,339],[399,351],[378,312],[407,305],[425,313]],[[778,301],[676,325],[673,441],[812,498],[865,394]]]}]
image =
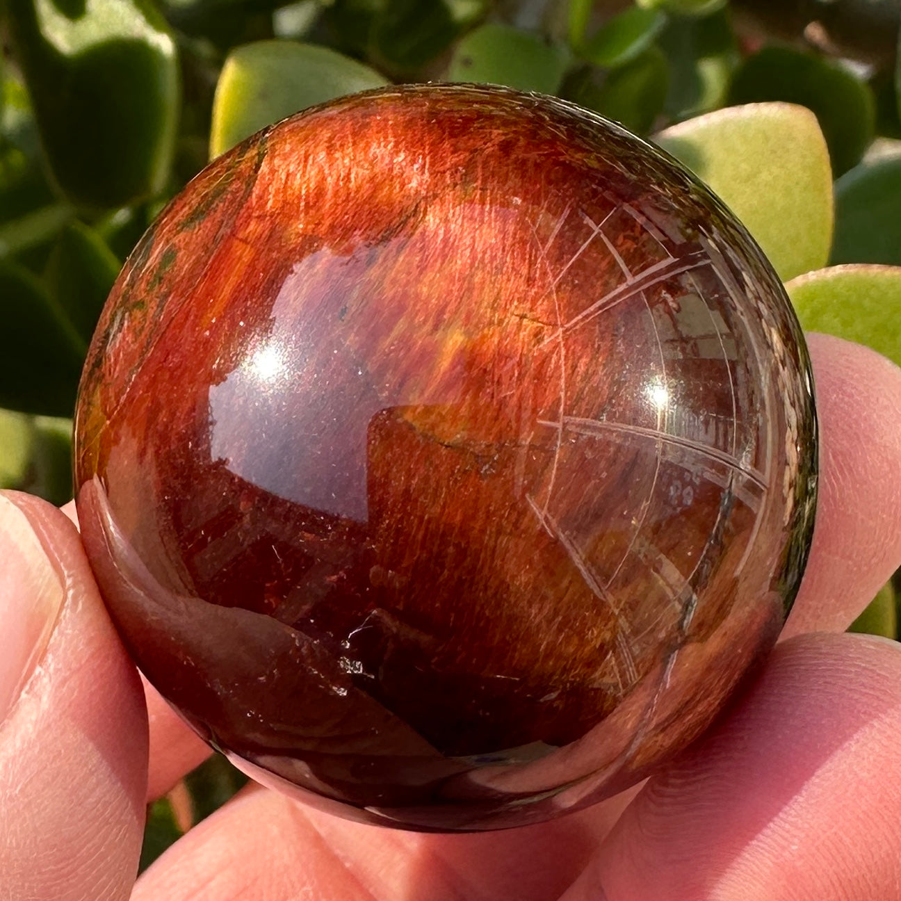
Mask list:
[{"label": "pale skin of the hand holding the sphere, excluding the thumbnail", "polygon": [[[145,803],[208,751],[152,689],[145,700],[66,515],[7,496],[65,596],[0,723],[0,901],[901,897],[901,647],[842,633],[901,564],[901,370],[837,339],[810,346],[815,541],[760,677],[643,787],[503,833],[395,832],[250,787],[135,882]],[[0,545],[0,592],[11,552]]]}]

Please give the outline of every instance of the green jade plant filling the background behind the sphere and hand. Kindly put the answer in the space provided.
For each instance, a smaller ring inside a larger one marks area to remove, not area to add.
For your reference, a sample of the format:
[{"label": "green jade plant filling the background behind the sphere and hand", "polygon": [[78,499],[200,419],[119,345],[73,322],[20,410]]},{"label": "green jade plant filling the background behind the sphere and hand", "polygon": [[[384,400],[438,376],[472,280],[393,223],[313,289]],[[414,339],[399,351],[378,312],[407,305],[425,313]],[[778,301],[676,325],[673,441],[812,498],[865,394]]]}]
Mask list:
[{"label": "green jade plant filling the background behind the sphere and hand", "polygon": [[[392,82],[623,123],[732,208],[806,329],[901,365],[899,20],[861,0],[5,0],[0,487],[68,500],[88,342],[168,200],[260,128]],[[895,603],[888,583],[853,628],[896,638]],[[158,802],[144,863],[240,783],[218,760]]]}]

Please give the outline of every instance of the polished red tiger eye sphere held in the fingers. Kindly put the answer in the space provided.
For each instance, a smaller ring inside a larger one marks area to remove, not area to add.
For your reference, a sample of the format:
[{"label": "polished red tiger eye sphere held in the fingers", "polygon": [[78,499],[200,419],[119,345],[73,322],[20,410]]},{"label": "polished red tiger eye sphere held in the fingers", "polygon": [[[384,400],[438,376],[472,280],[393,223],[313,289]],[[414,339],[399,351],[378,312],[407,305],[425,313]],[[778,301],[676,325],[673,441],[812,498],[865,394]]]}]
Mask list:
[{"label": "polished red tiger eye sphere held in the fingers", "polygon": [[114,622],[198,733],[344,815],[488,829],[642,778],[769,650],[815,414],[778,278],[671,159],[392,87],[169,205],[76,466]]}]

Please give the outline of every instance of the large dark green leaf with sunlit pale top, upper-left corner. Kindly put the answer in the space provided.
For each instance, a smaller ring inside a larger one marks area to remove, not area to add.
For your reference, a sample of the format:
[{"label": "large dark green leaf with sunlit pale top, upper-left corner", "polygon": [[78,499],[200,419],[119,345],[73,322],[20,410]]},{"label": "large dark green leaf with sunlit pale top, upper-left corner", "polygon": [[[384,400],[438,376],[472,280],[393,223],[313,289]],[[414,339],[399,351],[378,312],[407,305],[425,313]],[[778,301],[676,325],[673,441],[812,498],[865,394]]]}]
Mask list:
[{"label": "large dark green leaf with sunlit pale top, upper-left corner", "polygon": [[86,207],[158,193],[175,147],[176,44],[146,0],[7,0],[45,156]]}]

